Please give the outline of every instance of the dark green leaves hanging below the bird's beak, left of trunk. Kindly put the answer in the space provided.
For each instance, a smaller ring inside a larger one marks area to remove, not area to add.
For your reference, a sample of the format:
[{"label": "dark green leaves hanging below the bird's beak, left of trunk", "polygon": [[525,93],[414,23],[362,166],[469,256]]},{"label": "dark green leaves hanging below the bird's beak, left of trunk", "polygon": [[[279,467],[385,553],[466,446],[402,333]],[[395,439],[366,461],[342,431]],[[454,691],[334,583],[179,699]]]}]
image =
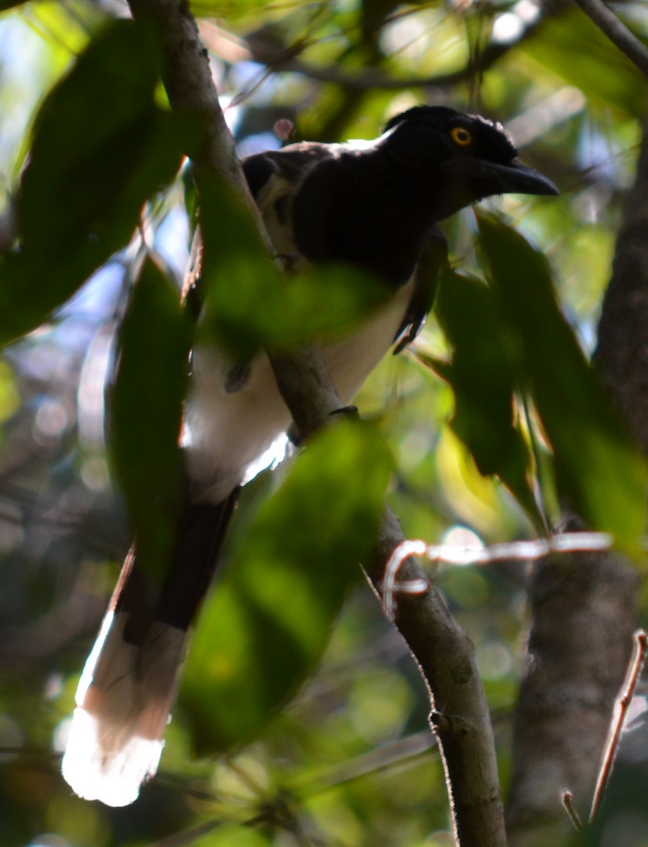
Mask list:
[{"label": "dark green leaves hanging below the bird's beak, left of trunk", "polygon": [[562,317],[546,257],[501,221],[478,220],[490,285],[446,271],[436,311],[453,355],[420,355],[452,386],[452,429],[479,471],[507,484],[542,529],[533,457],[515,416],[516,398],[526,395],[542,424],[536,449],[546,439],[551,446],[559,497],[639,555],[645,459]]}]

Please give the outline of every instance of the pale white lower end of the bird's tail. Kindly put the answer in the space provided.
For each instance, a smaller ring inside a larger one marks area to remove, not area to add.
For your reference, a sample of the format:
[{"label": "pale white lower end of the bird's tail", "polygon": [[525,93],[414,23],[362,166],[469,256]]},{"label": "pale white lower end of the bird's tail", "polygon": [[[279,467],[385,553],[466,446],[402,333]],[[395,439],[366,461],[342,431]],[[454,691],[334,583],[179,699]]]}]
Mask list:
[{"label": "pale white lower end of the bird's tail", "polygon": [[186,632],[155,621],[142,645],[124,639],[125,612],[109,611],[81,674],[62,763],[86,800],[128,805],[162,755],[186,651]]}]

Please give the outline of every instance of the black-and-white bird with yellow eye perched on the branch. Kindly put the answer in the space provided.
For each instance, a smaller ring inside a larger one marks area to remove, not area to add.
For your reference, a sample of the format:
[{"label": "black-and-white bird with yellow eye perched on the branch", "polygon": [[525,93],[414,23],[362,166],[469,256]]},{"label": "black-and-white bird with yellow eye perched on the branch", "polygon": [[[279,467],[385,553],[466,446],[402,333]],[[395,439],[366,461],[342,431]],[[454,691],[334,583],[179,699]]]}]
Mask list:
[{"label": "black-and-white bird with yellow eye perched on the branch", "polygon": [[[345,404],[395,340],[411,340],[422,324],[429,300],[414,269],[435,224],[484,197],[557,194],[518,161],[501,125],[440,106],[396,115],[374,141],[291,144],[246,158],[243,170],[288,271],[352,263],[392,292],[350,335],[322,344]],[[130,552],[76,695],[64,778],[81,797],[108,805],[135,800],[156,772],[187,633],[236,493],[251,464],[291,427],[267,355],[233,368],[216,346],[198,346],[186,426],[189,495],[169,575],[151,604]]]}]

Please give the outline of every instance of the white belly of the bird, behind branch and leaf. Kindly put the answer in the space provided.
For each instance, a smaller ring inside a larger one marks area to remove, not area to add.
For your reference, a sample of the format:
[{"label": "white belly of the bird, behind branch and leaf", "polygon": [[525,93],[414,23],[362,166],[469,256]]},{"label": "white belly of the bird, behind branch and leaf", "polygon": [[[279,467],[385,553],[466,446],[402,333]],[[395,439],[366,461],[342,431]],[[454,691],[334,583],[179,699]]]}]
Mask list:
[{"label": "white belly of the bird, behind branch and leaf", "polygon": [[[402,324],[413,282],[396,292],[352,335],[323,345],[324,361],[343,404],[352,401]],[[291,425],[268,357],[259,353],[240,390],[225,390],[230,358],[215,346],[198,346],[186,404],[188,471],[194,496],[219,502],[240,484],[246,469]]]}]

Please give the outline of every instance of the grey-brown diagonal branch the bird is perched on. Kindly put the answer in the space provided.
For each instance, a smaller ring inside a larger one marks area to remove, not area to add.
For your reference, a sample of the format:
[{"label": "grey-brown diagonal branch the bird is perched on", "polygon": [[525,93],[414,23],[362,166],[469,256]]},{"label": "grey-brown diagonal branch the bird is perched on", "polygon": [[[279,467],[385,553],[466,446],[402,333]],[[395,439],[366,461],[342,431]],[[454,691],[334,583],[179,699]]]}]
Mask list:
[{"label": "grey-brown diagonal branch the bird is perched on", "polygon": [[[153,15],[158,23],[167,57],[164,81],[173,107],[200,113],[208,120],[208,144],[197,161],[198,167],[213,168],[241,188],[244,180],[234,141],[225,125],[208,73],[207,57],[186,5],[180,0],[130,0],[130,8],[136,18]],[[249,192],[241,188],[241,193],[259,221]],[[274,357],[272,363],[281,394],[302,437],[328,424],[331,412],[341,407],[341,401],[318,350]],[[387,510],[374,559],[368,565],[369,579],[378,594],[386,562],[402,540],[398,522]],[[412,559],[403,563],[401,573],[403,579],[426,580]],[[430,692],[434,691],[434,696],[430,693],[435,709],[432,722],[444,751],[459,843],[505,847],[492,729],[473,645],[431,586],[424,594],[402,596],[396,625],[416,657]]]}]

